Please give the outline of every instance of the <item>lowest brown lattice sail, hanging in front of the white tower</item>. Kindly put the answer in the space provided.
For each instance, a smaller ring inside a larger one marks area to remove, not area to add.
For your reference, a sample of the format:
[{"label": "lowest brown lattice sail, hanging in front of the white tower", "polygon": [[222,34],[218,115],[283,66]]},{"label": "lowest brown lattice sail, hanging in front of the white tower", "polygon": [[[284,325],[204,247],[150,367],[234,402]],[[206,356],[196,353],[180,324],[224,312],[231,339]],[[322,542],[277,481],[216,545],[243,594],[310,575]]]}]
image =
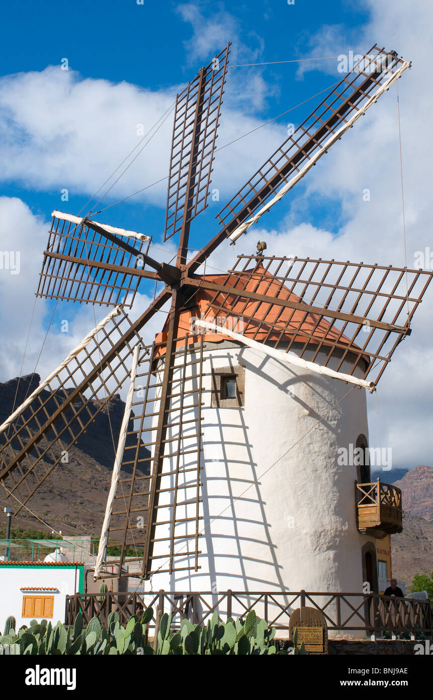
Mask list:
[{"label": "lowest brown lattice sail, hanging in front of the white tower", "polygon": [[[199,568],[203,339],[185,331],[175,347],[165,406],[164,332],[148,347],[137,372],[134,428],[129,433],[134,440],[125,448],[108,532],[108,545],[121,548],[118,570],[127,549],[133,549],[136,556],[128,561],[140,561],[139,575],[145,578],[156,570]],[[159,423],[164,438],[158,459]]]}]

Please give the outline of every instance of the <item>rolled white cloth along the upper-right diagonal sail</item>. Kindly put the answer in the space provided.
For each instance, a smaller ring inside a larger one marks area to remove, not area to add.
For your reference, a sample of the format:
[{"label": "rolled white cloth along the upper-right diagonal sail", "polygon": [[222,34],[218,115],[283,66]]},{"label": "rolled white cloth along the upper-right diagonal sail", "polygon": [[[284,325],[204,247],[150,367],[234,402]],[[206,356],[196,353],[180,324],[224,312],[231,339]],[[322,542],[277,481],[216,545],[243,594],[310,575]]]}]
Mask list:
[{"label": "rolled white cloth along the upper-right diagonal sail", "polygon": [[311,169],[313,165],[316,164],[316,162],[318,162],[319,158],[322,158],[322,155],[324,153],[327,153],[328,148],[330,148],[336,141],[338,141],[341,138],[341,135],[344,134],[348,129],[350,129],[350,127],[353,127],[355,121],[359,119],[360,116],[365,114],[367,109],[369,109],[369,107],[371,107],[371,105],[374,104],[374,102],[376,102],[376,100],[379,97],[381,97],[381,94],[383,94],[385,90],[389,90],[390,85],[392,85],[392,83],[394,83],[395,80],[397,80],[397,78],[399,78],[402,75],[403,71],[405,71],[406,68],[409,68],[410,66],[411,64],[407,61],[402,63],[402,65],[399,66],[397,71],[395,71],[395,73],[392,73],[392,76],[388,78],[388,80],[385,80],[385,83],[383,83],[381,87],[378,87],[378,90],[374,92],[374,94],[369,98],[369,100],[367,100],[364,106],[362,106],[361,109],[358,109],[355,112],[355,114],[353,114],[353,116],[351,116],[350,119],[348,119],[346,124],[343,124],[343,126],[340,127],[335,132],[335,134],[332,135],[332,137],[327,139],[323,146],[319,146],[318,151],[316,151],[316,153],[313,156],[311,156],[310,160],[307,160],[307,162],[301,167],[299,172],[297,172],[297,174],[294,175],[292,179],[289,180],[288,183],[286,183],[281,188],[281,190],[278,190],[278,193],[275,195],[275,197],[273,197],[267,204],[265,204],[264,207],[262,207],[262,209],[259,209],[259,211],[257,211],[257,214],[249,218],[248,221],[244,221],[243,223],[241,223],[241,225],[235,228],[232,234],[229,235],[229,239],[232,241],[230,245],[234,244],[234,241],[236,241],[236,239],[238,239],[239,236],[241,236],[243,233],[246,233],[250,226],[252,226],[253,223],[256,223],[256,221],[258,221],[260,217],[263,216],[263,214],[269,211],[271,207],[274,207],[274,204],[276,204],[276,202],[279,202],[279,200],[281,200],[281,198],[284,197],[284,195],[287,194],[292,189],[292,187],[294,187],[294,185],[296,185],[296,183],[304,177],[308,170]]}]

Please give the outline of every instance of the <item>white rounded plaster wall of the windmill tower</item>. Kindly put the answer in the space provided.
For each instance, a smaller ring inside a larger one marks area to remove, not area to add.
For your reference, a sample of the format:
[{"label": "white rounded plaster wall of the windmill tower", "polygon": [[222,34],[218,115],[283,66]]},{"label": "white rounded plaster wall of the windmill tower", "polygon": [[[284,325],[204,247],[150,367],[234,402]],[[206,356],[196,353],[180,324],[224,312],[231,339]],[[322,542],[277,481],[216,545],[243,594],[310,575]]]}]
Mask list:
[{"label": "white rounded plaster wall of the windmill tower", "polygon": [[[362,592],[361,549],[375,540],[357,531],[356,467],[339,466],[336,456],[360,433],[368,437],[364,389],[355,387],[315,426],[351,385],[248,348],[213,348],[204,363],[201,570],[155,574],[152,589]],[[211,369],[230,364],[245,366],[245,407],[212,408]],[[173,459],[164,461],[164,470],[174,467]],[[161,486],[172,483],[173,477],[163,477]],[[160,498],[169,506],[168,494]],[[180,512],[191,517],[194,507]],[[169,533],[169,526],[160,526],[156,536]],[[176,550],[187,551],[192,533],[193,522],[184,526]],[[155,554],[168,547],[157,542]],[[176,562],[194,563],[187,554]]]}]

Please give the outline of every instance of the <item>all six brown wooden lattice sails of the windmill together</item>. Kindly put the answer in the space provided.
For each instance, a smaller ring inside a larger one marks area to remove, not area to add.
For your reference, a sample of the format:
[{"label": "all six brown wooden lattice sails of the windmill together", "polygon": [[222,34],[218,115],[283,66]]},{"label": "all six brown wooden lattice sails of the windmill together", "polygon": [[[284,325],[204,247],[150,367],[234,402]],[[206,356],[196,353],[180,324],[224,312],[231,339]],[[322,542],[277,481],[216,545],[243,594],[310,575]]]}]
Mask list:
[{"label": "all six brown wooden lattice sails of the windmill together", "polygon": [[[288,193],[410,66],[376,45],[223,207],[219,232],[187,262],[192,219],[207,204],[228,55],[229,45],[176,99],[164,227],[165,240],[178,236],[176,265],[151,258],[150,241],[142,234],[53,212],[38,295],[120,302],[120,319],[109,318],[104,338],[93,335],[83,355],[66,358],[46,389],[0,428],[0,481],[19,510],[55,468],[59,448],[67,449],[92,421],[92,397],[99,391],[100,405],[106,405],[132,371],[124,427],[130,415],[133,428],[129,444],[116,454],[120,469],[113,470],[113,499],[104,519],[105,544],[120,545],[116,575],[122,575],[127,547],[135,548],[144,578],[157,570],[180,570],[185,542],[193,554],[187,568],[199,569],[203,344],[206,324],[215,330],[215,315],[243,318],[243,333],[232,334],[240,344],[257,343],[264,354],[308,361],[313,371],[318,367],[373,391],[409,335],[432,279],[421,270],[264,255],[240,256],[227,274],[199,274],[215,248],[227,239],[233,243]],[[123,307],[132,304],[143,278],[164,288],[131,323]],[[144,346],[143,328],[169,302],[162,337]],[[350,360],[350,370],[343,374],[344,360]],[[48,453],[54,463],[47,469]],[[170,486],[162,488],[167,477]],[[193,511],[187,523],[185,504]],[[162,556],[154,554],[155,542],[166,542]]]}]

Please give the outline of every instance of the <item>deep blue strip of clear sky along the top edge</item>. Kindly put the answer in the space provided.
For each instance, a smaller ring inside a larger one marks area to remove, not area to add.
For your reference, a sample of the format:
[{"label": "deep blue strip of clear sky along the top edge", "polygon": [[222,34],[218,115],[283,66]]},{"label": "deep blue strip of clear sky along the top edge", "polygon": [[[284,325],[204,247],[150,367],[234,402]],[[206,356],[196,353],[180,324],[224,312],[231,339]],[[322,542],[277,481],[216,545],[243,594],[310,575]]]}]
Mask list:
[{"label": "deep blue strip of clear sky along the top edge", "polygon": [[[193,34],[179,9],[186,4],[148,0],[142,5],[134,0],[74,0],[61,6],[52,0],[43,4],[28,0],[9,3],[2,13],[4,26],[11,31],[2,36],[1,72],[41,71],[67,56],[71,67],[84,77],[170,87],[187,80],[191,70],[199,68],[185,50],[185,42]],[[233,33],[227,38],[234,42],[240,39],[253,49],[262,47],[267,61],[304,55],[309,39],[324,25],[338,22],[350,29],[369,16],[362,1],[295,0],[293,5],[269,0],[212,1],[194,6],[203,18],[231,15],[236,36]],[[293,75],[293,71],[278,70],[276,76],[279,74],[279,80],[287,85],[290,73]]]}]

